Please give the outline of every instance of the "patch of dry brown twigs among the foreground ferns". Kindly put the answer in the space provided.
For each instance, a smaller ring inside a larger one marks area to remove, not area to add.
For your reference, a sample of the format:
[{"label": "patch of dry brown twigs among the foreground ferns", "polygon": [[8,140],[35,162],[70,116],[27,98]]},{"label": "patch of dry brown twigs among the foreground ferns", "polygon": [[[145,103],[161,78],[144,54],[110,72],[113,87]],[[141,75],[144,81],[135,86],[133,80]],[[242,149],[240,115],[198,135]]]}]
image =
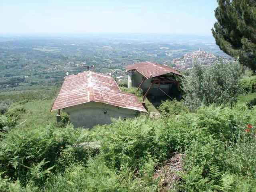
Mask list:
[{"label": "patch of dry brown twigs among the foreground ferns", "polygon": [[184,170],[184,165],[181,162],[183,156],[180,153],[174,154],[166,165],[158,168],[154,174],[154,179],[159,180],[159,184],[162,186],[161,191],[176,190],[176,185],[180,180],[180,176],[177,173]]}]

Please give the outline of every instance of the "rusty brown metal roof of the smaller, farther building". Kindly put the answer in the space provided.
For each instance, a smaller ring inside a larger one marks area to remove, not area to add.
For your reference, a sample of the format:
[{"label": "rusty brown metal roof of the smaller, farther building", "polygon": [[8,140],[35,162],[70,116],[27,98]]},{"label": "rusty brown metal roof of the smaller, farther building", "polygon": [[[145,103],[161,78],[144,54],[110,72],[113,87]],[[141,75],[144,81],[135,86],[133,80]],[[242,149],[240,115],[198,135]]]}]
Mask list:
[{"label": "rusty brown metal roof of the smaller, farther building", "polygon": [[176,71],[175,69],[165,66],[165,65],[160,65],[157,63],[152,63],[152,62],[140,62],[132,65],[128,65],[125,67],[126,70],[136,70],[140,74],[142,74],[144,77],[152,78],[152,77],[157,77],[160,75],[168,74],[168,73],[173,73],[179,76],[183,76],[180,72]]}]

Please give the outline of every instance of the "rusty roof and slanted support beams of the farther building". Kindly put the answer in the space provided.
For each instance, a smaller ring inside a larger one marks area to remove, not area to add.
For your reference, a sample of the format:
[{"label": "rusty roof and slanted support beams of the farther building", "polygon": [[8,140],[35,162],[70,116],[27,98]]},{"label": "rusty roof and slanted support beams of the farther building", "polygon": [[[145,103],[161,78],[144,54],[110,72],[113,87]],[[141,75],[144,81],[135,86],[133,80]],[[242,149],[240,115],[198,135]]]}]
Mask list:
[{"label": "rusty roof and slanted support beams of the farther building", "polygon": [[180,90],[181,81],[176,80],[176,75],[181,77],[183,77],[183,75],[169,66],[164,66],[164,65],[146,61],[146,62],[128,65],[125,68],[130,73],[138,72],[143,76],[137,91],[143,86],[145,80],[147,80],[148,82],[150,81],[150,86],[148,87],[148,89],[146,90],[143,96],[143,102],[146,96],[148,95],[148,93],[150,92],[150,90],[153,88],[153,86],[156,86],[158,90],[163,92],[169,98],[171,98],[171,96],[168,95],[164,90],[162,90],[162,88],[160,88],[160,85],[176,84],[176,86]]}]

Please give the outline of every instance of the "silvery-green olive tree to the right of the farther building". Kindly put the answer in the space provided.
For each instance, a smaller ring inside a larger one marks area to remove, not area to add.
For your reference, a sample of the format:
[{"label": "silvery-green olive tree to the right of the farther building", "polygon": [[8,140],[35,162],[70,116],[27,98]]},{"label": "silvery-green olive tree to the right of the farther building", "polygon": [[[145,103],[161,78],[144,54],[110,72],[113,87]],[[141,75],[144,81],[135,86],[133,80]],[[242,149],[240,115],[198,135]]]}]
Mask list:
[{"label": "silvery-green olive tree to the right of the farther building", "polygon": [[240,91],[240,73],[238,62],[219,61],[209,67],[194,64],[183,82],[186,104],[192,110],[212,103],[234,104]]}]

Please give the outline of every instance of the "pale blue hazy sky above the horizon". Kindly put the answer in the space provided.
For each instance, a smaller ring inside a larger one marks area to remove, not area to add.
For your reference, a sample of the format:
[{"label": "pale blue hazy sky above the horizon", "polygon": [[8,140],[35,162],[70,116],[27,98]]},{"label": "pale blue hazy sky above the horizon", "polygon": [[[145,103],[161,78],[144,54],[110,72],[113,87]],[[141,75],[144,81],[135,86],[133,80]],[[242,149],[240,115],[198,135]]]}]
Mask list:
[{"label": "pale blue hazy sky above the horizon", "polygon": [[0,0],[0,33],[211,35],[216,0]]}]

